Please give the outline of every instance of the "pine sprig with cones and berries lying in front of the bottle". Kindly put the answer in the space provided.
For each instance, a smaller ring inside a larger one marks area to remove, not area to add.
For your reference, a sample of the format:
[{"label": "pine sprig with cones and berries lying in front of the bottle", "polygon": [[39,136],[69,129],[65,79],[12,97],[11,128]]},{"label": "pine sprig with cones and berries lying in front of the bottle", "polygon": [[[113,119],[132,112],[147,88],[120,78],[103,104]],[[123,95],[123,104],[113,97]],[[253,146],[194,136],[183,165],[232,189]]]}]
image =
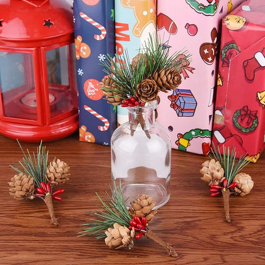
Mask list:
[{"label": "pine sprig with cones and berries lying in front of the bottle", "polygon": [[[79,232],[79,236],[95,236],[96,239],[105,238],[105,244],[110,249],[127,248],[131,250],[134,245],[134,239],[141,237],[151,239],[165,248],[169,256],[177,257],[177,253],[171,244],[166,243],[149,229],[149,223],[152,221],[156,211],[152,208],[155,202],[148,195],[138,195],[137,200],[131,202],[129,210],[126,207],[125,200],[122,196],[121,184],[111,190],[111,195],[101,198],[97,193],[100,210],[88,211],[93,218],[88,223],[82,224],[87,226]],[[144,209],[141,211],[141,209]],[[143,214],[144,212],[144,214]]]}]

